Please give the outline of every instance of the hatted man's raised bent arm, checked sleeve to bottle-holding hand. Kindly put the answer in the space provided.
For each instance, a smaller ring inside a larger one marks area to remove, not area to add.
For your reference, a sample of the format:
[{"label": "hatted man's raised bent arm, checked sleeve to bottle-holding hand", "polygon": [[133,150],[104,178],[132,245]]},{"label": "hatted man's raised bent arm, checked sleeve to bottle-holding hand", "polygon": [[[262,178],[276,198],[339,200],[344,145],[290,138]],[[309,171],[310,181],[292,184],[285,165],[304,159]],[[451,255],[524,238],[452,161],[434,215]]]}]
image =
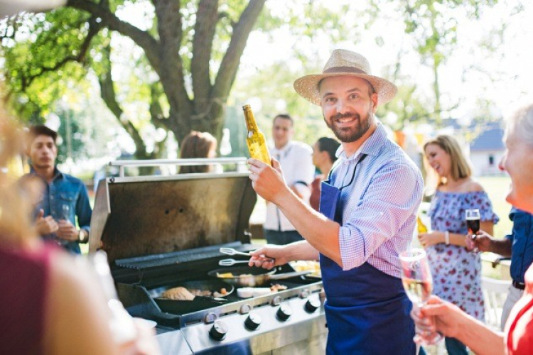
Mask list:
[{"label": "hatted man's raised bent arm, checked sleeve to bottle-holding hand", "polygon": [[[317,251],[345,270],[362,265],[387,239],[392,238],[412,216],[421,200],[421,179],[407,165],[385,166],[372,178],[365,199],[343,226],[303,204],[286,187],[279,170],[249,159],[254,190],[279,206],[300,234]],[[412,193],[398,194],[398,187]],[[343,259],[340,244],[348,245]],[[343,262],[345,261],[345,262]]]}]

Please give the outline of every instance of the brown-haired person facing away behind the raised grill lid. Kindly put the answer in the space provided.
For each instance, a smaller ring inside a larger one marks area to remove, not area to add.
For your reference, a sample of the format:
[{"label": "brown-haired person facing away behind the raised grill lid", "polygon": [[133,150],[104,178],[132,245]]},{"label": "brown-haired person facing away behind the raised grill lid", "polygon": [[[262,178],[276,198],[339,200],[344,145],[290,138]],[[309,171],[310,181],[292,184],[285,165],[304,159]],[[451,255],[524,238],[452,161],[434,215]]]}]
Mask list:
[{"label": "brown-haired person facing away behind the raised grill lid", "polygon": [[[208,132],[191,131],[180,147],[180,158],[216,158],[217,138]],[[214,165],[182,165],[180,174],[212,173]]]}]

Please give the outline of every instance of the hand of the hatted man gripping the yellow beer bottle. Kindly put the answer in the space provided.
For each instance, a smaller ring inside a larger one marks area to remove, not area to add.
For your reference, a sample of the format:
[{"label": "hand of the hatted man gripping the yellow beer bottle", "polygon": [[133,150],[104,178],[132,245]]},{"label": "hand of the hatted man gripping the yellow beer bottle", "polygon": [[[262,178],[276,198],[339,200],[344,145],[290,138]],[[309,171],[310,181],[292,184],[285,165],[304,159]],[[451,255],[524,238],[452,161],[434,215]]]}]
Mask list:
[{"label": "hand of the hatted man gripping the yellow beer bottle", "polygon": [[278,160],[272,158],[272,166],[270,166],[261,160],[249,158],[248,164],[250,165],[249,178],[252,180],[252,187],[264,200],[276,203],[283,192],[290,191],[285,183]]}]

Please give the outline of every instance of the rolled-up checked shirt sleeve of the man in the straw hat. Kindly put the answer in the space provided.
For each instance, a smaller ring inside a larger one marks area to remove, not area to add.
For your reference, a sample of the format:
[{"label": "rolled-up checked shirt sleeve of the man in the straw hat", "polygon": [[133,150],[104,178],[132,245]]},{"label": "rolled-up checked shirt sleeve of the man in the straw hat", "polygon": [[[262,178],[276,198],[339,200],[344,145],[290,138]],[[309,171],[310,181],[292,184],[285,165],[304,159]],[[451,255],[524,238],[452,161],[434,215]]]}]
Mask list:
[{"label": "rolled-up checked shirt sleeve of the man in the straw hat", "polygon": [[[375,173],[340,226],[343,270],[361,266],[382,244],[398,252],[409,243],[422,189],[419,172],[407,164],[387,164]],[[394,236],[400,240],[392,241]]]}]

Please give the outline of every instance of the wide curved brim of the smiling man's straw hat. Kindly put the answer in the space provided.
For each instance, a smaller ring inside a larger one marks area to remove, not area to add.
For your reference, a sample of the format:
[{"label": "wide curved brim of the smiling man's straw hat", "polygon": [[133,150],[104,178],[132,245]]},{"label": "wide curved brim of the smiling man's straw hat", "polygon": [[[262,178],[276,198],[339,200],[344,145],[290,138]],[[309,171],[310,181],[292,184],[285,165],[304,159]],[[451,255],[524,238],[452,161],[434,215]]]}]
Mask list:
[{"label": "wide curved brim of the smiling man's straw hat", "polygon": [[360,77],[372,84],[377,92],[377,105],[387,104],[394,99],[398,92],[396,85],[382,77],[366,75],[354,72],[331,72],[327,74],[306,75],[294,81],[294,89],[298,94],[309,102],[320,106],[321,97],[318,91],[318,83],[326,77]]}]

